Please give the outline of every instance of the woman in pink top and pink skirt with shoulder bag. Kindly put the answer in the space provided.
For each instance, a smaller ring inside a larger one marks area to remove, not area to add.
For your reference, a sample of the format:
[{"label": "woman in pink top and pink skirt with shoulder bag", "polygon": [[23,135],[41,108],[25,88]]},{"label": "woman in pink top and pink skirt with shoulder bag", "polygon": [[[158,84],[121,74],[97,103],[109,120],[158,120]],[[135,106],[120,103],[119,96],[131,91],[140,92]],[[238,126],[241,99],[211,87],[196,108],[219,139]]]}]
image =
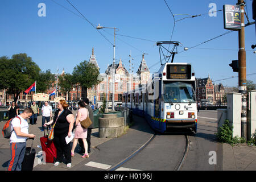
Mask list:
[{"label": "woman in pink top and pink skirt with shoulder bag", "polygon": [[75,148],[76,148],[76,145],[77,145],[77,141],[79,138],[82,138],[82,142],[84,142],[84,155],[82,156],[82,158],[89,158],[89,155],[88,155],[88,144],[87,144],[87,141],[86,141],[86,138],[87,138],[87,129],[83,128],[81,126],[81,123],[80,121],[86,119],[87,117],[89,117],[89,112],[88,110],[85,108],[85,104],[83,101],[80,101],[78,103],[79,105],[79,110],[77,112],[77,117],[76,117],[76,131],[75,131],[75,139],[74,139],[74,142],[73,142],[73,146],[72,146],[72,150],[71,150],[71,156],[75,156]]}]

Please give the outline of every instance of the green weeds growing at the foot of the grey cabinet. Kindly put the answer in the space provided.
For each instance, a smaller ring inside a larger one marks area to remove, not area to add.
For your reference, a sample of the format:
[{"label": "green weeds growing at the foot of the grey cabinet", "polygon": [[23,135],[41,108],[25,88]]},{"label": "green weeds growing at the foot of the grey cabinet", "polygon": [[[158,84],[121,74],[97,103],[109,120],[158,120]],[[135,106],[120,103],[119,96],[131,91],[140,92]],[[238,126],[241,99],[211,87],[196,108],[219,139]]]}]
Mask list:
[{"label": "green weeds growing at the foot of the grey cabinet", "polygon": [[229,143],[233,146],[233,144],[237,143],[245,143],[244,138],[233,137],[233,126],[229,126],[228,119],[225,120],[224,125],[220,127],[218,133],[216,134],[218,141],[222,143]]}]

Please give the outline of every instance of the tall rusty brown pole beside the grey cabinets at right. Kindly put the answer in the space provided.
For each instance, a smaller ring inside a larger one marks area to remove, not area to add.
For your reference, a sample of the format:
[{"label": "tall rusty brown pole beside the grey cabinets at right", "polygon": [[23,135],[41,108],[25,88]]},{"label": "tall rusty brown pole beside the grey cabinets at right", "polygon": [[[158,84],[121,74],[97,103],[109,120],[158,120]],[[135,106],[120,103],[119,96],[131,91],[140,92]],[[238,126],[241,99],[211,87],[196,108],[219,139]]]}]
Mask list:
[{"label": "tall rusty brown pole beside the grey cabinets at right", "polygon": [[238,0],[237,5],[241,6],[241,30],[238,30],[239,51],[238,51],[238,89],[242,94],[241,112],[241,137],[246,139],[247,117],[246,117],[246,52],[245,52],[245,2]]}]

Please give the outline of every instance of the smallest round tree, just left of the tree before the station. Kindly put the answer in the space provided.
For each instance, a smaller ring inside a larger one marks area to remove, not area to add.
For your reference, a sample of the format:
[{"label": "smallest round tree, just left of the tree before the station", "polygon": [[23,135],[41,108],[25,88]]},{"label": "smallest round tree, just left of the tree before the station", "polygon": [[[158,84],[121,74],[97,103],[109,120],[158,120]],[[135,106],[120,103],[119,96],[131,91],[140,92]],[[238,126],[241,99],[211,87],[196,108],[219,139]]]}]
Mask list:
[{"label": "smallest round tree, just left of the tree before the station", "polygon": [[63,75],[60,75],[59,77],[58,85],[60,86],[61,92],[68,92],[67,100],[69,96],[69,92],[72,90],[73,85],[75,84],[73,75],[70,73],[64,73]]}]

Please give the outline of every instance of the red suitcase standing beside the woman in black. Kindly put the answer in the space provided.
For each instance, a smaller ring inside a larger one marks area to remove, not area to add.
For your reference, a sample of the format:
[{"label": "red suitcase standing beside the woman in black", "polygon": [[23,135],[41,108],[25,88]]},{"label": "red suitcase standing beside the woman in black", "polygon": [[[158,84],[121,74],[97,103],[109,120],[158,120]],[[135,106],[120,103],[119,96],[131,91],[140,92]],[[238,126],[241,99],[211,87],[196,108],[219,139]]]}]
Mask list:
[{"label": "red suitcase standing beside the woman in black", "polygon": [[[47,133],[49,135],[48,127]],[[48,135],[44,133],[44,137],[40,138],[42,150],[45,152],[46,162],[47,163],[54,163],[55,159],[57,158],[56,147],[53,144],[53,140],[48,140]]]}]

